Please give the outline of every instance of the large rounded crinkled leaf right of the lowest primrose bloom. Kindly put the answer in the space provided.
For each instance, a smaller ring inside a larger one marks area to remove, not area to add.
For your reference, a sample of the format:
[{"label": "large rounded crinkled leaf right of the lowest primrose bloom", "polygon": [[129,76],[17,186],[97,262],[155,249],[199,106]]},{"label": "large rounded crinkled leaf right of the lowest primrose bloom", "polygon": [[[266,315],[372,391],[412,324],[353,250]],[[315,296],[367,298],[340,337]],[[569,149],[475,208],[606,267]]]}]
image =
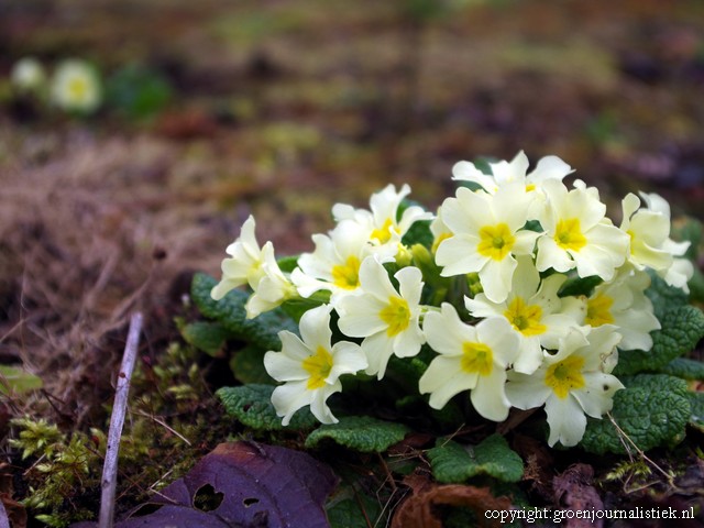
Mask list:
[{"label": "large rounded crinkled leaf right of the lowest primrose bloom", "polygon": [[[684,438],[691,405],[686,383],[666,374],[639,374],[622,380],[625,389],[614,396],[610,414],[618,427],[644,451],[675,444]],[[587,418],[581,446],[593,453],[626,453],[618,431],[604,416]]]}]

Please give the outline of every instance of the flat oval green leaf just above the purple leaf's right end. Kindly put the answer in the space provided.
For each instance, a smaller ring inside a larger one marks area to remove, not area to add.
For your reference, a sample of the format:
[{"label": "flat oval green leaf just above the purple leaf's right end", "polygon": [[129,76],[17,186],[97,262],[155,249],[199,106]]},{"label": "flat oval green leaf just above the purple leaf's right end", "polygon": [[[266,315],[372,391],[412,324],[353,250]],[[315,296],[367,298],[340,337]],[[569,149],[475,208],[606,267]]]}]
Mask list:
[{"label": "flat oval green leaf just above the purple leaf's right end", "polygon": [[371,416],[345,416],[338,424],[320,426],[308,435],[306,448],[317,448],[326,440],[332,440],[362,453],[381,453],[400,442],[409,432],[403,424],[383,421]]}]

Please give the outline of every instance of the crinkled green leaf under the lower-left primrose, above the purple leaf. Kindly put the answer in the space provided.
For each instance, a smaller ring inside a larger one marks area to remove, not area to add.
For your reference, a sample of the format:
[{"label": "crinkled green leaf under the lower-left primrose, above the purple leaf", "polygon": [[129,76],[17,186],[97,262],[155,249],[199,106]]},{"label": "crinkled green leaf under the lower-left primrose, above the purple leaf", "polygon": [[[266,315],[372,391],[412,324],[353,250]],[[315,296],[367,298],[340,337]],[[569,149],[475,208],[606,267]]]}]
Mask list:
[{"label": "crinkled green leaf under the lower-left primrose, above the purple leaf", "polygon": [[252,429],[279,431],[293,429],[311,429],[317,420],[308,408],[294,415],[290,424],[282,426],[282,419],[276,416],[272,405],[272,385],[249,384],[240,387],[222,387],[217,393],[227,413],[234,416],[241,424]]}]

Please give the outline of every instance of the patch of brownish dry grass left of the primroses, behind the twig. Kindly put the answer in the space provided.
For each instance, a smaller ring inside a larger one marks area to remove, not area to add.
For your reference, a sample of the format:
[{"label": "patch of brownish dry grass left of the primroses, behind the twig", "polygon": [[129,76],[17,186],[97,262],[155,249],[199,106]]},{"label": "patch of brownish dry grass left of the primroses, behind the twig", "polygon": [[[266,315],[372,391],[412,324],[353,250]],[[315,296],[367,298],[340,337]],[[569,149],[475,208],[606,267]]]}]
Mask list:
[{"label": "patch of brownish dry grass left of the primroses, behind the twig", "polygon": [[20,140],[0,169],[0,360],[44,380],[18,410],[100,425],[130,314],[147,316],[145,346],[168,333],[169,288],[185,287],[174,279],[215,272],[230,227],[168,187],[173,145],[70,130]]}]

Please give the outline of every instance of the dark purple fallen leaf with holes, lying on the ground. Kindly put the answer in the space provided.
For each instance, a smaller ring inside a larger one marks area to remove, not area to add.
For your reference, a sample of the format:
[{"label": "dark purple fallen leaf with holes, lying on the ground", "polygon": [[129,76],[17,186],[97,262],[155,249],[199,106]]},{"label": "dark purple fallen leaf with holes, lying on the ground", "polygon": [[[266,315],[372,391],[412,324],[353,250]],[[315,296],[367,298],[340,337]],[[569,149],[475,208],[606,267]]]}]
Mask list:
[{"label": "dark purple fallen leaf with holes, lying on the ground", "polygon": [[143,505],[160,509],[138,517],[138,508],[116,528],[327,528],[324,502],[337,482],[327,465],[304,452],[221,443]]}]

